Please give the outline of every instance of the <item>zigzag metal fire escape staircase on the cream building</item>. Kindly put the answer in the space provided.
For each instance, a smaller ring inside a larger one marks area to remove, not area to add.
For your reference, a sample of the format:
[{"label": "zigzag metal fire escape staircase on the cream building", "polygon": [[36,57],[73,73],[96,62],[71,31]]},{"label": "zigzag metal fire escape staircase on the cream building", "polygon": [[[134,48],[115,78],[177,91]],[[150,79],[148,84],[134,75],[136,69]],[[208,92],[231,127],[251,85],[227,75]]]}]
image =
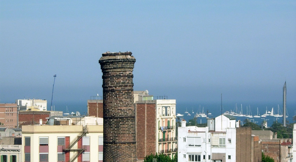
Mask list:
[{"label": "zigzag metal fire escape staircase on the cream building", "polygon": [[75,152],[68,162],[73,162],[84,150],[86,150],[84,146],[82,146],[81,148],[73,147],[78,142],[78,140],[80,140],[86,133],[88,133],[88,128],[83,127],[79,135],[77,135],[77,137],[67,147],[63,148],[63,150],[66,152]]}]

